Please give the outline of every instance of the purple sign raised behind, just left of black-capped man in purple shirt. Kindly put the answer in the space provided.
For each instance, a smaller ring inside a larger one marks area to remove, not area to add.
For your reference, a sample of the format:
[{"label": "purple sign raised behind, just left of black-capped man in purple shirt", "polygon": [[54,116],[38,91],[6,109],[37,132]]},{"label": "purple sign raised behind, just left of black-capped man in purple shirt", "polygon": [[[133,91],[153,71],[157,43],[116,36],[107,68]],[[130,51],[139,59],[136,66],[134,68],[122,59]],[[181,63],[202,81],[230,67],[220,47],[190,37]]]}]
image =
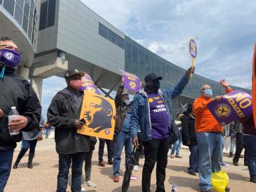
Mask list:
[{"label": "purple sign raised behind, just left of black-capped man in purple shirt", "polygon": [[123,85],[125,89],[138,92],[139,89],[141,89],[141,81],[139,80],[139,77],[131,73],[127,73],[126,71],[120,71],[123,73]]}]

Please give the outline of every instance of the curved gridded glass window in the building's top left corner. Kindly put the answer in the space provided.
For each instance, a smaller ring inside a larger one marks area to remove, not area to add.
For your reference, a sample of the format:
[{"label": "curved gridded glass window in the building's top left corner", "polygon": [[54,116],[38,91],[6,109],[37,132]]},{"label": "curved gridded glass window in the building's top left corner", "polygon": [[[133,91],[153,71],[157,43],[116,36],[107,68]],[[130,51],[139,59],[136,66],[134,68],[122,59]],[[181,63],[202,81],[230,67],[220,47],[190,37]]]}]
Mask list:
[{"label": "curved gridded glass window in the building's top left corner", "polygon": [[37,23],[36,2],[37,0],[0,0],[0,6],[3,6],[6,11],[13,15],[33,45],[35,44],[33,37],[36,27],[32,26]]}]

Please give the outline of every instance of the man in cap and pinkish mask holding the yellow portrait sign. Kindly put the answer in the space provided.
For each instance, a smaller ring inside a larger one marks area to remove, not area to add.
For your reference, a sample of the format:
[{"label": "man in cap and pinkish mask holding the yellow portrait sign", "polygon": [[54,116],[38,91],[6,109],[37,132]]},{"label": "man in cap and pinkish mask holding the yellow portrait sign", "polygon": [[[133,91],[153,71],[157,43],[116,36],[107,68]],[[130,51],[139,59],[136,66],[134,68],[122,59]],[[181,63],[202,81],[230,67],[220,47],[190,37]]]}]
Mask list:
[{"label": "man in cap and pinkish mask holding the yellow portrait sign", "polygon": [[85,153],[90,150],[90,137],[77,133],[84,123],[79,121],[83,103],[81,77],[85,73],[77,69],[65,73],[67,88],[59,91],[49,106],[47,118],[55,127],[56,151],[59,154],[57,192],[66,191],[69,167],[72,161],[71,191],[81,191],[81,179]]}]

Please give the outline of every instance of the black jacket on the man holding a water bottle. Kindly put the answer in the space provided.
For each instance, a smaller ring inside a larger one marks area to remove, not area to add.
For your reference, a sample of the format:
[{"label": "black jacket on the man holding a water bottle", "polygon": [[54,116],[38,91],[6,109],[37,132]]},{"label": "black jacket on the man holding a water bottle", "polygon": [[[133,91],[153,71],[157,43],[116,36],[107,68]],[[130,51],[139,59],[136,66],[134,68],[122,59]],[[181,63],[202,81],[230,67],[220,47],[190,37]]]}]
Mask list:
[{"label": "black jacket on the man holding a water bottle", "polygon": [[19,135],[9,135],[8,115],[11,107],[16,107],[19,115],[28,119],[27,127],[22,131],[37,129],[41,118],[41,105],[37,95],[29,82],[14,72],[15,69],[6,67],[5,77],[0,79],[0,109],[3,109],[3,117],[0,117],[0,151],[15,149],[16,142],[22,139],[21,131]]}]

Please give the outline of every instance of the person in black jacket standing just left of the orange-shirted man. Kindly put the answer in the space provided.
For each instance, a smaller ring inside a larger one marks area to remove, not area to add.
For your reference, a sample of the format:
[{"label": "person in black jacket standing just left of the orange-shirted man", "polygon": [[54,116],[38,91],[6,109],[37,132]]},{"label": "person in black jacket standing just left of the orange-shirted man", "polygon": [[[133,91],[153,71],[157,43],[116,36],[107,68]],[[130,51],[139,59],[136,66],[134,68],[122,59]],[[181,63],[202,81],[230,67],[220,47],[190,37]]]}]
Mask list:
[{"label": "person in black jacket standing just left of the orange-shirted man", "polygon": [[195,136],[195,117],[192,113],[192,105],[189,104],[187,111],[181,118],[183,145],[189,147],[189,168],[190,175],[197,175],[198,172],[198,154],[197,154],[197,137]]}]

